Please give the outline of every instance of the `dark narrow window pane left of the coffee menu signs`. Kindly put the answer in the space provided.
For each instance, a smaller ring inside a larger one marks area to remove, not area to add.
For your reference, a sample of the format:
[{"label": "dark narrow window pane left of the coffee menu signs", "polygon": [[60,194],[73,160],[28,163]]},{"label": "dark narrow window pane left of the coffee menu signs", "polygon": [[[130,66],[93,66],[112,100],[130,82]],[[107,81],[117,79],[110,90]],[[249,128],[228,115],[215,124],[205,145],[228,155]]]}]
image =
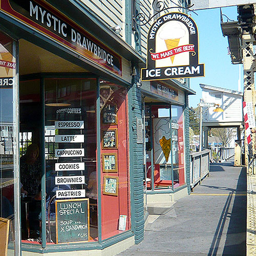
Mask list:
[{"label": "dark narrow window pane left of the coffee menu signs", "polygon": [[19,83],[19,156],[22,241],[38,243],[41,223],[41,101],[39,79]]}]

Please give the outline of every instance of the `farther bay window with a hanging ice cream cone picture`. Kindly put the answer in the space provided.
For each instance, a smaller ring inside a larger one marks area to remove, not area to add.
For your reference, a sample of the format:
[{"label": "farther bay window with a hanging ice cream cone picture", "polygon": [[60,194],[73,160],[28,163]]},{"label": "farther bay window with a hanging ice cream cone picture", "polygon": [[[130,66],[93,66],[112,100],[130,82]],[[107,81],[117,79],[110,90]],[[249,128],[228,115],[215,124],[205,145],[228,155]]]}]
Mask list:
[{"label": "farther bay window with a hanging ice cream cone picture", "polygon": [[182,107],[145,104],[144,109],[144,185],[147,189],[175,189],[185,183]]}]

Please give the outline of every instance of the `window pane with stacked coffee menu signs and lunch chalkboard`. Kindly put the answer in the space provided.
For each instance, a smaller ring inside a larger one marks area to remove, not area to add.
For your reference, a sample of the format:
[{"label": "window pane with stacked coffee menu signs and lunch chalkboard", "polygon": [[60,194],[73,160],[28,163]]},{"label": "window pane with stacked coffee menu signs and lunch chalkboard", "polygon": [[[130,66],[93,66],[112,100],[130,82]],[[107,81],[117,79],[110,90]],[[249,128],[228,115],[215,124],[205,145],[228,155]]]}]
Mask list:
[{"label": "window pane with stacked coffee menu signs and lunch chalkboard", "polygon": [[98,240],[96,92],[96,79],[45,79],[49,243]]}]

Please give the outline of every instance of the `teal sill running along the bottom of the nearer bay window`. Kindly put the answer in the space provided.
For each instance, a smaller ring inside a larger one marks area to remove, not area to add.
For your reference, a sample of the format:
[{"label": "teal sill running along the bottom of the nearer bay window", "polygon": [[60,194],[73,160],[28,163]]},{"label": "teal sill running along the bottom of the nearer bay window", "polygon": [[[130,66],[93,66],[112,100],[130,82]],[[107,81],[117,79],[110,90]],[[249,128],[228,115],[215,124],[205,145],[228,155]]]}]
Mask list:
[{"label": "teal sill running along the bottom of the nearer bay window", "polygon": [[77,244],[67,244],[67,245],[47,245],[46,248],[41,248],[39,245],[29,245],[23,244],[23,251],[30,252],[39,252],[39,253],[48,253],[48,252],[65,252],[65,251],[82,251],[82,250],[102,250],[111,245],[119,243],[125,239],[134,237],[134,233],[129,230],[121,234],[118,234],[115,237],[104,240],[101,244],[95,243],[77,243]]}]

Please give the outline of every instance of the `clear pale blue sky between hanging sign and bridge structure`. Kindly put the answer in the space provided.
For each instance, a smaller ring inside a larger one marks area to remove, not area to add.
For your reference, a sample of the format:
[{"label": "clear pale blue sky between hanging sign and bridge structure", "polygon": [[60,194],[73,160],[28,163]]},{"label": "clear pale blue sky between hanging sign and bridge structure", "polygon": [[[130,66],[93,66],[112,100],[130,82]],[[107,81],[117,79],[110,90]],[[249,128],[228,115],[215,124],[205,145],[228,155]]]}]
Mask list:
[{"label": "clear pale blue sky between hanging sign and bridge structure", "polygon": [[[205,65],[205,76],[190,78],[190,88],[197,95],[189,96],[189,106],[196,108],[202,98],[199,84],[208,84],[220,88],[238,91],[239,66],[241,66],[241,81],[243,82],[243,66],[233,65],[227,54],[228,40],[223,37],[220,25],[220,9],[196,11],[192,14],[199,31],[199,63]],[[222,13],[230,19],[237,20],[237,7],[222,8]],[[223,21],[227,19],[223,17]],[[243,86],[240,87],[243,90]]]}]

